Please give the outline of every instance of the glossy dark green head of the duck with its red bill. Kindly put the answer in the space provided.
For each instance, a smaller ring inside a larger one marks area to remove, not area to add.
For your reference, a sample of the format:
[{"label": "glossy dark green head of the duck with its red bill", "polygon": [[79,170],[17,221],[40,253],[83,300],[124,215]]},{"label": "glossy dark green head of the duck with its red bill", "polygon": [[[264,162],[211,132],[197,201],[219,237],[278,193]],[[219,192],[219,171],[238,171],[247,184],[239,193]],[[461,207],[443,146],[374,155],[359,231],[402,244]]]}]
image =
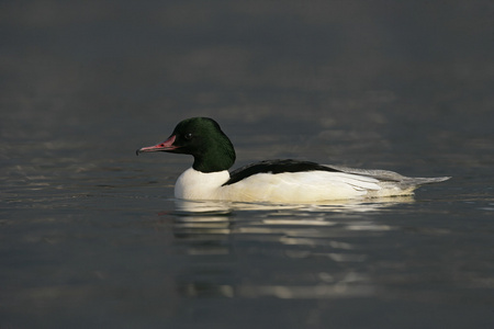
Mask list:
[{"label": "glossy dark green head of the duck with its red bill", "polygon": [[181,121],[167,140],[136,150],[144,152],[166,151],[194,157],[195,170],[213,172],[227,170],[235,162],[232,141],[220,125],[209,117],[192,117]]}]

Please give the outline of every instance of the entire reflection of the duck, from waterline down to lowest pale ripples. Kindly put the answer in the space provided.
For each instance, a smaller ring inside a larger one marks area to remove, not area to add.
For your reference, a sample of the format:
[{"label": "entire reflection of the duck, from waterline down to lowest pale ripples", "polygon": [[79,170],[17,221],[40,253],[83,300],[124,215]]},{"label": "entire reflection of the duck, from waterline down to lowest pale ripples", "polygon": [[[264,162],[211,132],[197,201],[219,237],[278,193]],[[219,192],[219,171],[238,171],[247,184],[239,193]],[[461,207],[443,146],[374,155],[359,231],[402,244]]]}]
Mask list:
[{"label": "entire reflection of the duck, from waterline down to lowest pale ripples", "polygon": [[176,201],[173,234],[189,259],[183,296],[370,296],[368,243],[393,227],[375,212],[413,202],[311,205]]}]

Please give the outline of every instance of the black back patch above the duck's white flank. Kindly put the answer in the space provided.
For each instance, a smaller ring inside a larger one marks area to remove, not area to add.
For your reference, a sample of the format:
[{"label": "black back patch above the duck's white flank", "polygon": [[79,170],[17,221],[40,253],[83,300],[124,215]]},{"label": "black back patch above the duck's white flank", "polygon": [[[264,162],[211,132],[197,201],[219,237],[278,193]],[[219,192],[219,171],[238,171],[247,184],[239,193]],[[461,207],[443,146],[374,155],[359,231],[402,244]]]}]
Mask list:
[{"label": "black back patch above the duck's white flank", "polygon": [[234,170],[229,174],[229,180],[223,185],[235,184],[252,174],[257,173],[283,173],[283,172],[303,172],[303,171],[332,171],[341,172],[340,170],[333,169],[316,162],[299,161],[299,160],[266,160],[251,164],[247,164],[239,169]]}]

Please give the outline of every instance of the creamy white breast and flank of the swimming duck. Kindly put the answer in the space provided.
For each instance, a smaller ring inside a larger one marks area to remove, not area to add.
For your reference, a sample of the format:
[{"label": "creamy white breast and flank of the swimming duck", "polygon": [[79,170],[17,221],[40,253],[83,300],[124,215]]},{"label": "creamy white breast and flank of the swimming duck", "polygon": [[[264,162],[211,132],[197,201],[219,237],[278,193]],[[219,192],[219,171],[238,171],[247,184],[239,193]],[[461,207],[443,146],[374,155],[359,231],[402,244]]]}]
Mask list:
[{"label": "creamy white breast and flank of the swimming duck", "polygon": [[238,202],[315,202],[411,194],[413,189],[344,172],[307,171],[258,173],[235,184],[223,184],[228,171],[204,173],[190,168],[177,180],[175,196],[184,200]]}]

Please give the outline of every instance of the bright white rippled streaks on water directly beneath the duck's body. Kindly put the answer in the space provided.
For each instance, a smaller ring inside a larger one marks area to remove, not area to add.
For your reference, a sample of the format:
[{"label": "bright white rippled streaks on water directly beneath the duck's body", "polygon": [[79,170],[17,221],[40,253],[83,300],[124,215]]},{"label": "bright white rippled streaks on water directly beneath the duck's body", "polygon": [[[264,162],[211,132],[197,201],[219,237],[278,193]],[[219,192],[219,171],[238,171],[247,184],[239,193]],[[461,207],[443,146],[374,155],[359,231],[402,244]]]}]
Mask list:
[{"label": "bright white rippled streaks on water directly beneath the duck's body", "polygon": [[[270,239],[282,245],[335,246],[339,243],[349,249],[348,243],[329,241],[326,238],[348,235],[351,231],[392,230],[393,227],[374,223],[367,215],[413,201],[413,197],[394,197],[373,203],[267,204],[176,200],[173,227],[181,237],[184,235],[257,236],[258,239],[263,240],[271,237]],[[338,220],[334,220],[334,216],[337,216]],[[341,222],[341,218],[347,217],[351,220]]]}]

